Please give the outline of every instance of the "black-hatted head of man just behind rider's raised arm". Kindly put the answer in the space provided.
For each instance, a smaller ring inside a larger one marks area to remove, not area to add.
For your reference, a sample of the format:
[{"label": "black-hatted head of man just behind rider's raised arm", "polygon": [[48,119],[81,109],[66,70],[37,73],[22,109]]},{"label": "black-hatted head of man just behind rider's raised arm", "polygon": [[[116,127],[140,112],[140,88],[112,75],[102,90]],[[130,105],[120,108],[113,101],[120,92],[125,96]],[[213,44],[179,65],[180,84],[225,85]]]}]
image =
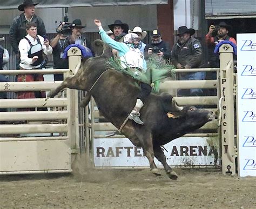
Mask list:
[{"label": "black-hatted head of man just behind rider's raised arm", "polygon": [[124,36],[128,33],[129,26],[116,19],[113,24],[108,25],[109,29],[114,32],[114,41],[124,42]]}]

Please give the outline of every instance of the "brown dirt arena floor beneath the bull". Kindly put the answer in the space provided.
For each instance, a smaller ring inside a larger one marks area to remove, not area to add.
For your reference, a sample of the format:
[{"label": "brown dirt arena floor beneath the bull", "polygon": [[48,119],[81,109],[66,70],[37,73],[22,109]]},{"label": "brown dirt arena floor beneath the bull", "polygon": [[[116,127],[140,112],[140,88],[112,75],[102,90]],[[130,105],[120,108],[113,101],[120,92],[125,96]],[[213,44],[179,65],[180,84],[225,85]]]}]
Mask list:
[{"label": "brown dirt arena floor beneath the bull", "polygon": [[93,170],[0,176],[0,208],[256,208],[256,178],[219,170]]}]

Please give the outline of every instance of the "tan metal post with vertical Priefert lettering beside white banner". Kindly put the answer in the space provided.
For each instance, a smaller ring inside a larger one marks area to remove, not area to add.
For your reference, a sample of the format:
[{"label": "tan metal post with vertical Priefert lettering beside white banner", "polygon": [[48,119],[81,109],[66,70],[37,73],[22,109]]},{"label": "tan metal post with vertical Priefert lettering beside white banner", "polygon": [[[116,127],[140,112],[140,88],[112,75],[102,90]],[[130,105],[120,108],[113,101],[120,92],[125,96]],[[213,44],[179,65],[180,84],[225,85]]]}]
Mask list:
[{"label": "tan metal post with vertical Priefert lettering beside white banner", "polygon": [[235,174],[234,62],[233,47],[224,43],[220,53],[221,153],[223,174]]}]

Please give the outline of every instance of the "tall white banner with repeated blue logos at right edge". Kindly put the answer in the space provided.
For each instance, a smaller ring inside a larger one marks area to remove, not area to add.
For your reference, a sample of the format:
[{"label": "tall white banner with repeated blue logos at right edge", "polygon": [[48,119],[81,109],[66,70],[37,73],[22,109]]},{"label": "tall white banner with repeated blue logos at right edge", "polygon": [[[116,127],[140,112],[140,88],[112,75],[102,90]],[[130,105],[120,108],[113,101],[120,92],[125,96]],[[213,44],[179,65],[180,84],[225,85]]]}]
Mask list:
[{"label": "tall white banner with repeated blue logos at right edge", "polygon": [[256,176],[256,33],[237,35],[239,176]]}]

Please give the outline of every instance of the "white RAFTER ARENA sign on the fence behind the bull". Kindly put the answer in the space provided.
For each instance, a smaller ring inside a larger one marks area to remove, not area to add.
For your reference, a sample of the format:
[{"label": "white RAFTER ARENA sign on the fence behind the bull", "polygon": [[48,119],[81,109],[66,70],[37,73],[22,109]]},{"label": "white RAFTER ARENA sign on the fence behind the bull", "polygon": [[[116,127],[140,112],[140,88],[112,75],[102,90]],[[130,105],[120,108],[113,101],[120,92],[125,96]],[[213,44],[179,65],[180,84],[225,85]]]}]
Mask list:
[{"label": "white RAFTER ARENA sign on the fence behind the bull", "polygon": [[[96,167],[149,166],[142,147],[127,138],[96,138],[93,146]],[[218,137],[181,137],[164,145],[163,151],[171,166],[219,165]]]}]

